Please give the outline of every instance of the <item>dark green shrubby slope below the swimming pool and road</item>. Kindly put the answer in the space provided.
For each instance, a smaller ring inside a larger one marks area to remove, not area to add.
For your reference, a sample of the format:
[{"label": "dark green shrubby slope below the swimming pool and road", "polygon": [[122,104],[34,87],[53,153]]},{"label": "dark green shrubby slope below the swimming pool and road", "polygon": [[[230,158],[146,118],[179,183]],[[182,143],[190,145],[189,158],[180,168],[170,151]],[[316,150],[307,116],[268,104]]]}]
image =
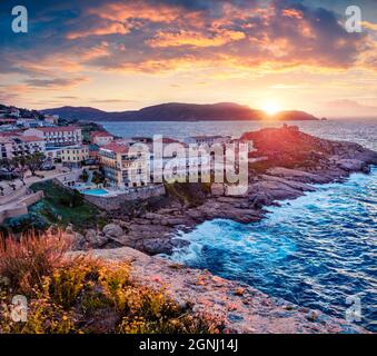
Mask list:
[{"label": "dark green shrubby slope below the swimming pool and road", "polygon": [[67,189],[52,180],[33,184],[30,188],[33,191],[43,190],[44,198],[30,211],[42,216],[49,225],[66,227],[72,224],[77,230],[82,230],[106,222],[105,212],[85,201],[77,190]]}]

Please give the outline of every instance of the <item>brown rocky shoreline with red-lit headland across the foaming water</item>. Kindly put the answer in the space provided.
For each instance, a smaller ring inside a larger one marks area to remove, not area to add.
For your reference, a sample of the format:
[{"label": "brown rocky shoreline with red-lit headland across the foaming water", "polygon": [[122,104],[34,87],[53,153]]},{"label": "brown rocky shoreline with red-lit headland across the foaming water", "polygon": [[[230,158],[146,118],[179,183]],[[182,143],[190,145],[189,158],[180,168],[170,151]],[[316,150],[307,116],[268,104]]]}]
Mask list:
[{"label": "brown rocky shoreline with red-lit headland across the foaming water", "polygon": [[[310,144],[309,154],[300,158],[305,165],[284,167],[278,164],[289,161],[292,154],[286,147],[278,148],[279,159],[268,145],[260,145],[258,151],[266,156],[269,165],[260,171],[249,166],[248,191],[244,196],[227,196],[221,184],[212,184],[210,191],[195,187],[200,204],[189,205],[169,198],[162,207],[150,211],[116,211],[112,222],[102,230],[89,229],[85,235],[75,234],[76,249],[131,247],[148,255],[171,254],[177,247],[188,243],[177,238],[178,231],[189,231],[197,225],[216,218],[238,222],[252,222],[264,218],[266,207],[278,205],[279,200],[296,199],[307,191],[315,191],[314,185],[344,181],[353,172],[368,174],[370,165],[377,165],[377,152],[353,142],[338,142],[319,139],[289,129],[265,129],[257,138],[271,135],[284,136],[286,141],[299,150]],[[258,132],[246,134],[255,139]],[[286,136],[288,136],[288,139]],[[266,139],[268,142],[268,139]],[[296,154],[296,152],[295,152]],[[269,167],[270,166],[270,167]]]}]

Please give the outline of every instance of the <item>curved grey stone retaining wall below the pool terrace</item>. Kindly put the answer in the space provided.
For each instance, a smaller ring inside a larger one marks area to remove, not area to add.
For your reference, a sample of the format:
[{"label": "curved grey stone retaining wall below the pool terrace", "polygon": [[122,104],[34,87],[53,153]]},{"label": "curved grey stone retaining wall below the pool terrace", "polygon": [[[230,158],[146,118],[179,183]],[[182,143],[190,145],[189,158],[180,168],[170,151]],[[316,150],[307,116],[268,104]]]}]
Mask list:
[{"label": "curved grey stone retaining wall below the pool terrace", "polygon": [[120,209],[125,201],[132,201],[138,199],[148,199],[151,197],[158,197],[165,195],[165,186],[150,186],[145,188],[137,188],[133,191],[120,194],[115,197],[100,197],[85,195],[85,199],[92,205],[103,210],[117,210]]}]

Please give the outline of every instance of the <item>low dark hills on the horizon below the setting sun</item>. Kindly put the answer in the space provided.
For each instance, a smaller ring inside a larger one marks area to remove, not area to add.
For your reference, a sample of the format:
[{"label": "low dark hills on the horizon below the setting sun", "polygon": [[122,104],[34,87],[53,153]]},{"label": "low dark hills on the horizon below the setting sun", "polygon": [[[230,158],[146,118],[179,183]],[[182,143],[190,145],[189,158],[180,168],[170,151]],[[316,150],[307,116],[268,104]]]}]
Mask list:
[{"label": "low dark hills on the horizon below the setting sun", "polygon": [[[221,120],[262,120],[267,115],[232,102],[211,105],[161,103],[135,111],[108,112],[90,107],[61,107],[41,110],[43,113],[57,113],[63,119],[85,121],[221,121]],[[304,111],[281,111],[278,120],[318,120]]]}]

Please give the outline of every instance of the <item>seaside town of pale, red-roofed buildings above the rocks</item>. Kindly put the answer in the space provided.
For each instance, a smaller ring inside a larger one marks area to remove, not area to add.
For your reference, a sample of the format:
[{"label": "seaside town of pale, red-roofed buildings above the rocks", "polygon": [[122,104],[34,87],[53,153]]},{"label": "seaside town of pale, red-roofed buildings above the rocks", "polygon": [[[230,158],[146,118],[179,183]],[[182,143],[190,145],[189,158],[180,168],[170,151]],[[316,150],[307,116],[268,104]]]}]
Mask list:
[{"label": "seaside town of pale, red-roofed buildings above the rocks", "polygon": [[123,138],[97,123],[2,106],[0,222],[27,214],[28,206],[42,197],[28,188],[52,179],[105,209],[109,201],[116,208],[123,200],[163,195],[165,182],[231,181],[242,161],[242,179],[240,175],[236,179],[247,187],[252,151],[251,140],[230,136],[194,136],[182,141],[162,136]]}]

